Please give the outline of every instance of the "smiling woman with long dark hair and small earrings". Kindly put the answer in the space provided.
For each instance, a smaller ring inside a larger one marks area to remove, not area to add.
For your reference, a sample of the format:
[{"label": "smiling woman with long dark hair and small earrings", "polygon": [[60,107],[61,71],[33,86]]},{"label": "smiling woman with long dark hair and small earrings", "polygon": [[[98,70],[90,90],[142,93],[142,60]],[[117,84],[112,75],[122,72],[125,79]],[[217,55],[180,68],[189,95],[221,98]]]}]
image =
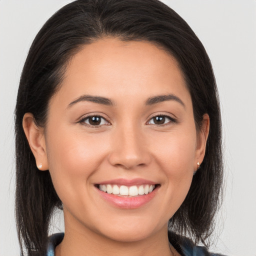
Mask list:
[{"label": "smiling woman with long dark hair and small earrings", "polygon": [[[29,256],[208,255],[192,241],[207,245],[219,206],[217,89],[202,44],[168,6],[61,8],[29,50],[15,124]],[[55,207],[65,234],[48,239]]]}]

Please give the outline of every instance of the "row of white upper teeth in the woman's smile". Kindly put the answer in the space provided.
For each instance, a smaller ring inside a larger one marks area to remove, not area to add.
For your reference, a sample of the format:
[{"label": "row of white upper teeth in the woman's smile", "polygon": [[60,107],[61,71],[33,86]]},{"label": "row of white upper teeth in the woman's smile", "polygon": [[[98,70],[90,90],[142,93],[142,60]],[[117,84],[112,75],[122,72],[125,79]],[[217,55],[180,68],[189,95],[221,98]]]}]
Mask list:
[{"label": "row of white upper teeth in the woman's smile", "polygon": [[120,187],[116,184],[100,184],[98,186],[99,190],[107,192],[108,194],[117,194],[117,195],[128,195],[128,196],[137,196],[151,193],[154,189],[155,185],[133,185],[133,186],[125,186],[120,185]]}]

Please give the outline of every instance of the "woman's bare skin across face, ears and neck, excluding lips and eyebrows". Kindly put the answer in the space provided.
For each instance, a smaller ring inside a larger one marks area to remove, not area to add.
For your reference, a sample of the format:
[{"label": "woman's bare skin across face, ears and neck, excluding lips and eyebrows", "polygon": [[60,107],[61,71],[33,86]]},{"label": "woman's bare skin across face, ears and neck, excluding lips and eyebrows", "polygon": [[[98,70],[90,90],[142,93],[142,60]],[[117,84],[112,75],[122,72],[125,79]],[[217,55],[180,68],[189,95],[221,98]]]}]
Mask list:
[{"label": "woman's bare skin across face, ears and neck, excluding lips and eyebrows", "polygon": [[[114,104],[69,105],[85,94]],[[145,104],[166,94],[183,104],[173,99]],[[86,115],[104,119],[92,127]],[[164,124],[152,119],[162,115],[170,117]],[[26,113],[23,127],[37,166],[49,169],[63,203],[65,236],[57,256],[179,255],[169,246],[167,222],[203,160],[209,117],[204,114],[196,131],[191,97],[173,57],[145,41],[110,37],[85,45],[49,101],[46,126],[37,127]],[[115,178],[145,178],[159,187],[143,206],[118,208],[95,187]]]}]

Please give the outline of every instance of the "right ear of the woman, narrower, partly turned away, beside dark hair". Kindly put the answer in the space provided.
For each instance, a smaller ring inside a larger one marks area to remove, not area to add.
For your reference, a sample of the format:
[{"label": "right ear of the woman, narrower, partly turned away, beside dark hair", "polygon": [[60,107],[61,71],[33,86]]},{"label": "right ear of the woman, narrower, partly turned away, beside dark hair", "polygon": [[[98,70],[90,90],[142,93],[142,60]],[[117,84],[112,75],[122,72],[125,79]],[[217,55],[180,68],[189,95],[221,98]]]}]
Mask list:
[{"label": "right ear of the woman, narrower, partly turned away, beside dark hair", "polygon": [[209,115],[205,113],[202,117],[201,128],[199,130],[199,133],[197,134],[194,170],[197,170],[199,167],[197,162],[201,164],[203,160],[203,157],[205,154],[206,142],[209,134],[209,125],[210,125]]}]

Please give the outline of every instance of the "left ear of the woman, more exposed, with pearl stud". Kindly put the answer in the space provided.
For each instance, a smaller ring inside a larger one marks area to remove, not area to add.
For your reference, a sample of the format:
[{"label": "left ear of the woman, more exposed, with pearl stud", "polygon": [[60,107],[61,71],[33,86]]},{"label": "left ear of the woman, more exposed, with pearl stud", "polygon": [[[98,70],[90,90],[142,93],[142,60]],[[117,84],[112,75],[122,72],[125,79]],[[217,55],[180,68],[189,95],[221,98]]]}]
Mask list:
[{"label": "left ear of the woman, more exposed, with pearl stud", "polygon": [[25,113],[23,129],[39,170],[48,169],[47,152],[43,128],[38,127],[32,113]]}]

